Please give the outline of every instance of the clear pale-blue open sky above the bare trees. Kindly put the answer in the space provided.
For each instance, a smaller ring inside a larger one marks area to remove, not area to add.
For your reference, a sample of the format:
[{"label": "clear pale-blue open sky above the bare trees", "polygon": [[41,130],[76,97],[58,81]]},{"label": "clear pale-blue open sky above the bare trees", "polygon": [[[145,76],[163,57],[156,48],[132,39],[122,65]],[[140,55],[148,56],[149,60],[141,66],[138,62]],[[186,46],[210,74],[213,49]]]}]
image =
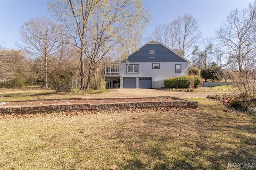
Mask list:
[{"label": "clear pale-blue open sky above the bare trees", "polygon": [[[8,49],[17,49],[20,27],[26,21],[48,15],[48,0],[0,0],[0,40]],[[185,13],[198,21],[203,37],[214,36],[214,29],[236,8],[248,6],[252,0],[144,0],[144,8],[151,8],[152,20],[146,27],[148,37],[159,23],[169,23]]]}]

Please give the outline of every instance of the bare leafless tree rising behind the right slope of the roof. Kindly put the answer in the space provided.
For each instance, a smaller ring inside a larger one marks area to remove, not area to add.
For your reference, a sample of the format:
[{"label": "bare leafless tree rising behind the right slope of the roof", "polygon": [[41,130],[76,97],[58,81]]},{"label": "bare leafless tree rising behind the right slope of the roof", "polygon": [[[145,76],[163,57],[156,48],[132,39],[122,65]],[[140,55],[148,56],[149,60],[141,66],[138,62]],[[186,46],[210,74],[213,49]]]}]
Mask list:
[{"label": "bare leafless tree rising behind the right slope of the roof", "polygon": [[182,49],[185,56],[191,55],[193,47],[201,38],[201,31],[191,14],[184,14],[171,23],[157,25],[152,33],[154,40],[163,43],[170,49]]}]

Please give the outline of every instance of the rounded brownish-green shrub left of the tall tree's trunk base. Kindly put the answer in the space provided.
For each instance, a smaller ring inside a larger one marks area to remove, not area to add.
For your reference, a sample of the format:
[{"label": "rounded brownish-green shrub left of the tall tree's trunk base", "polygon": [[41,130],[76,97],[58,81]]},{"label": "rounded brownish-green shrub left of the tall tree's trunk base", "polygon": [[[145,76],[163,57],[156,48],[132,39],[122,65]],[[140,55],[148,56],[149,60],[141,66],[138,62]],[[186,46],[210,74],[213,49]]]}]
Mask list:
[{"label": "rounded brownish-green shrub left of the tall tree's trunk base", "polygon": [[48,76],[49,87],[57,92],[70,92],[73,73],[68,70],[56,70]]}]

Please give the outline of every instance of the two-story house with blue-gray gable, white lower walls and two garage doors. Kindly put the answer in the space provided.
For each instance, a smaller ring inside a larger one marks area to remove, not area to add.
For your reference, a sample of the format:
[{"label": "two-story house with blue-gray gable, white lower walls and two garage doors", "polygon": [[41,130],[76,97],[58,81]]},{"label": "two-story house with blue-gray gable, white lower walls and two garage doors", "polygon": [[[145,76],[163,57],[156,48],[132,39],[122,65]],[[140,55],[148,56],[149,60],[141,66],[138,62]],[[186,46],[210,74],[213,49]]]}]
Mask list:
[{"label": "two-story house with blue-gray gable, white lower walls and two garage doors", "polygon": [[150,41],[126,60],[105,67],[107,88],[161,88],[166,78],[188,75],[183,50]]}]

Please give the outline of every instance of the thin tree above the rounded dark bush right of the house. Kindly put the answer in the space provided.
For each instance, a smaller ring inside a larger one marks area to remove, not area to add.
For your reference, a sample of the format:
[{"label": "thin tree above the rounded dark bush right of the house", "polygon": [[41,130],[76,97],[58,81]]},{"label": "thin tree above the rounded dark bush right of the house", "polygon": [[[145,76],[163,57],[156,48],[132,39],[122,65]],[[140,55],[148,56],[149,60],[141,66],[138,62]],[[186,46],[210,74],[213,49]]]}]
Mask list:
[{"label": "thin tree above the rounded dark bush right of the house", "polygon": [[193,66],[199,69],[205,68],[212,61],[213,54],[213,42],[212,38],[205,38],[201,49],[198,46],[195,46],[193,55]]}]

